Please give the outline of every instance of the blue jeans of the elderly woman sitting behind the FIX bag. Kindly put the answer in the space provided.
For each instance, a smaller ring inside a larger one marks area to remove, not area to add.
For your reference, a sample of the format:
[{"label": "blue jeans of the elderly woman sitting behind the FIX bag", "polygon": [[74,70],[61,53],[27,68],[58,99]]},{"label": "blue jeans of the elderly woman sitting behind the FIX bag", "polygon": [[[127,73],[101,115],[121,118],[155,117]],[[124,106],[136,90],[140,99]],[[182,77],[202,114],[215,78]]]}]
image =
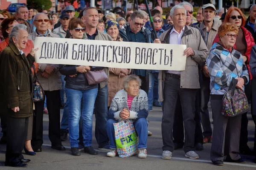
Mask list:
[{"label": "blue jeans of the elderly woman sitting behind the FIX bag", "polygon": [[[107,132],[110,141],[110,148],[116,149],[115,130],[113,123],[117,123],[118,120],[108,119]],[[148,121],[145,118],[137,119],[134,123],[134,128],[139,136],[138,149],[147,147],[148,140]]]}]

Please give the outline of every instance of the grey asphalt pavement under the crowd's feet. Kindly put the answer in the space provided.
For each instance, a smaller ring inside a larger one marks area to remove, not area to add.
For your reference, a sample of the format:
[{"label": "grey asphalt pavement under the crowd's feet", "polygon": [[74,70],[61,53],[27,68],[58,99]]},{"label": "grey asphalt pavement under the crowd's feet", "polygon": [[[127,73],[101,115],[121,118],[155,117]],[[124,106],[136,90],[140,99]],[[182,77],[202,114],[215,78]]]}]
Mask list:
[{"label": "grey asphalt pavement under the crowd's feet", "polygon": [[[224,162],[224,166],[217,167],[210,161],[210,149],[211,144],[204,144],[204,150],[197,151],[200,159],[192,160],[185,158],[184,151],[182,149],[175,150],[172,154],[172,159],[161,159],[162,154],[162,136],[161,136],[161,119],[162,111],[160,108],[153,108],[152,112],[149,112],[149,127],[148,129],[153,133],[148,137],[148,158],[138,159],[137,156],[129,158],[115,158],[106,157],[104,151],[99,151],[98,155],[89,155],[81,151],[81,156],[72,156],[70,152],[70,144],[67,141],[62,142],[67,147],[65,151],[53,150],[50,147],[50,141],[48,138],[48,115],[44,115],[44,145],[42,152],[37,153],[36,156],[28,156],[24,154],[26,159],[31,159],[26,169],[31,170],[256,170],[256,164],[253,163],[253,156],[244,156],[247,159],[246,164],[229,163]],[[248,145],[253,148],[253,134],[254,124],[250,114],[249,119],[249,142]],[[94,119],[95,120],[95,119]],[[212,121],[212,120],[211,120]],[[93,127],[95,122],[93,122]],[[94,128],[93,128],[94,129]],[[93,130],[94,134],[94,130]],[[2,134],[0,134],[1,136]],[[96,139],[93,136],[93,147],[98,149]],[[17,170],[19,168],[1,166],[5,160],[5,145],[0,145],[0,170]],[[23,168],[21,168],[23,169]]]}]

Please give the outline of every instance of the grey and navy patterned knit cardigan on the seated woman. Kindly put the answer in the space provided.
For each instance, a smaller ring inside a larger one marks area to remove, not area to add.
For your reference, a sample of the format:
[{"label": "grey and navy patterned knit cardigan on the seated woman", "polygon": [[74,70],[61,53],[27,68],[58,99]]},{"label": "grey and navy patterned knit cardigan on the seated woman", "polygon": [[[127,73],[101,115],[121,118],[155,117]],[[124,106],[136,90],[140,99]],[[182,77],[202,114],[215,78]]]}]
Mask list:
[{"label": "grey and navy patterned knit cardigan on the seated woman", "polygon": [[109,111],[108,119],[121,119],[119,113],[126,108],[130,111],[129,119],[140,119],[148,117],[148,96],[145,91],[140,90],[139,94],[131,102],[131,109],[128,108],[127,92],[122,89],[113,97]]}]

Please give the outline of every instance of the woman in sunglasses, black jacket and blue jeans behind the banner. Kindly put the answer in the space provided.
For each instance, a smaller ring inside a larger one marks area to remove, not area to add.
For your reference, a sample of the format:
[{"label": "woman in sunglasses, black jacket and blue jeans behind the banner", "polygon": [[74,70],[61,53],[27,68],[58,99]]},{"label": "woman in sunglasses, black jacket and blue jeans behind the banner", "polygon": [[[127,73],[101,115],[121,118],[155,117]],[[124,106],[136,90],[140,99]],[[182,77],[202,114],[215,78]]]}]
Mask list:
[{"label": "woman in sunglasses, black jacket and blue jeans behind the banner", "polygon": [[[84,23],[72,18],[69,23],[69,31],[73,39],[82,39],[84,35]],[[69,134],[73,156],[80,156],[79,143],[79,119],[83,119],[82,134],[84,152],[91,155],[98,153],[92,147],[93,108],[98,94],[98,85],[89,85],[85,77],[87,71],[102,70],[103,67],[91,67],[85,65],[62,65],[60,73],[65,75],[65,92],[69,104]]]}]

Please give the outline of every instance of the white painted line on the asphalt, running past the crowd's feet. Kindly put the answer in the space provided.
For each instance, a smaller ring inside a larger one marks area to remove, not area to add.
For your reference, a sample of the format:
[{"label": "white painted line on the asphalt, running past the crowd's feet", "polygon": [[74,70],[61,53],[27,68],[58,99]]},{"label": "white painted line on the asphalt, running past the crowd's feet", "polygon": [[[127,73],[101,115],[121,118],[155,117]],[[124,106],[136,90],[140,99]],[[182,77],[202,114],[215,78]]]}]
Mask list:
[{"label": "white painted line on the asphalt, running past the crowd's feet", "polygon": [[[51,144],[43,144],[43,146],[49,146],[51,147]],[[71,149],[70,146],[64,146],[68,149]],[[98,152],[105,152],[105,150],[98,150],[95,149]],[[161,158],[162,156],[160,155],[148,155],[149,157],[154,157],[154,158]],[[177,159],[177,160],[183,160],[183,161],[197,161],[197,162],[207,162],[207,163],[212,163],[212,161],[207,161],[207,160],[202,160],[202,159],[188,159],[188,158],[179,158],[179,157],[172,157],[172,159]],[[236,166],[241,166],[241,167],[256,167],[256,165],[251,165],[251,164],[239,164],[239,163],[233,163],[233,162],[224,162],[224,164],[229,164],[229,165],[236,165]]]}]

